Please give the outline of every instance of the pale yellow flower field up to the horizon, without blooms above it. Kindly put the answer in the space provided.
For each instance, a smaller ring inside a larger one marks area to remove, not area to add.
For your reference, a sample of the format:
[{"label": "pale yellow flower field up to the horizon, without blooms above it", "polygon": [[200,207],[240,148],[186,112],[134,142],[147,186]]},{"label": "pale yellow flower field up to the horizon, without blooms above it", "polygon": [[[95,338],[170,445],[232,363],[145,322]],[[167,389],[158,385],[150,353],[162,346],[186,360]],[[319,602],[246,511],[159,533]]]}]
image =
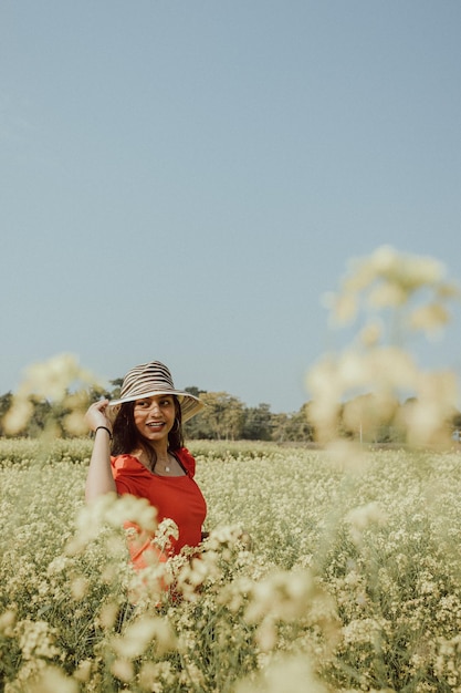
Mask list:
[{"label": "pale yellow flower field up to the horizon, without blooms above it", "polygon": [[458,449],[190,448],[211,534],[166,591],[148,509],[85,508],[91,441],[0,441],[1,691],[461,691]]}]

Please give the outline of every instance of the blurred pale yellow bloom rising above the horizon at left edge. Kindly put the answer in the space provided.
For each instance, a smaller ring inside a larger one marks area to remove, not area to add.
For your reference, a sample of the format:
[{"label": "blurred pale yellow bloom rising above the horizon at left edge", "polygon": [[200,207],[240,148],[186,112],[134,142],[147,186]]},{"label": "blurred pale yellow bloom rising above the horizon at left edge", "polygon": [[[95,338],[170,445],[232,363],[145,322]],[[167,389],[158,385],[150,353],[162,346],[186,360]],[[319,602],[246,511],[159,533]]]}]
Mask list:
[{"label": "blurred pale yellow bloom rising above the horizon at left edge", "polygon": [[69,433],[83,434],[86,431],[83,417],[88,405],[83,389],[88,386],[98,386],[98,383],[73,354],[57,354],[30,365],[3,418],[6,433],[15,435],[23,431],[33,415],[33,401],[48,401],[59,404],[65,412],[62,424]]}]

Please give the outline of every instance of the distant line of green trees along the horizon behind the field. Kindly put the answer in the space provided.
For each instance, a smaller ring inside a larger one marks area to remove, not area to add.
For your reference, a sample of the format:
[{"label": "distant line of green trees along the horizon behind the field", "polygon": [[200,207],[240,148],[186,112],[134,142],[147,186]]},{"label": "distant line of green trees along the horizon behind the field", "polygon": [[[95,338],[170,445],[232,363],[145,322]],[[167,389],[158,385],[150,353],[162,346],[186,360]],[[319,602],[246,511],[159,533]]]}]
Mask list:
[{"label": "distant line of green trees along the horizon behind the field", "polygon": [[[106,396],[109,400],[119,396],[122,379],[111,381],[112,389],[103,391],[92,389],[85,393],[82,405],[86,408],[92,402]],[[205,403],[205,408],[185,424],[185,433],[188,439],[210,441],[272,441],[276,443],[315,442],[315,426],[310,420],[310,406],[307,402],[297,412],[279,413],[271,412],[269,404],[245,406],[241,400],[227,392],[206,392],[198,387],[186,387],[187,392],[199,396]],[[3,416],[11,406],[13,395],[11,392],[0,396],[0,436],[8,433],[3,426]],[[57,436],[69,436],[64,420],[69,415],[69,408],[62,403],[48,400],[31,399],[33,413],[20,436],[38,437],[45,428],[53,426]],[[411,406],[413,400],[409,399],[398,405],[402,412]],[[364,406],[365,405],[365,406]],[[338,405],[337,437],[360,439],[364,443],[389,444],[400,443],[405,439],[405,432],[395,424],[399,417],[392,415],[392,420],[376,421],[375,417],[364,415],[364,412],[373,411],[373,395],[359,395],[354,400]],[[360,412],[358,416],[352,416],[350,412]],[[402,417],[400,417],[402,418]],[[461,412],[454,410],[447,421],[451,432],[461,432]]]}]

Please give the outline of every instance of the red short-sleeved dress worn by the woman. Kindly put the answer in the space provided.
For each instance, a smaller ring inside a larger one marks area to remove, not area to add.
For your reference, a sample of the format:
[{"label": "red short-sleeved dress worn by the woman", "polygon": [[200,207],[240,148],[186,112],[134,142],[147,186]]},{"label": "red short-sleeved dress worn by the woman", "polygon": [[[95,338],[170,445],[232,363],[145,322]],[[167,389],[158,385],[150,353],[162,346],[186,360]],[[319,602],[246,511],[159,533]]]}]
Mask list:
[{"label": "red short-sleeved dress worn by the woman", "polygon": [[143,535],[139,528],[136,541],[129,541],[129,552],[135,568],[146,566],[146,550],[155,551],[157,559],[166,560],[179,554],[185,546],[198,546],[201,541],[201,528],[207,515],[207,505],[200,488],[193,480],[196,461],[185,447],[172,453],[186,470],[185,476],[159,476],[147,469],[133,455],[112,457],[112,473],[117,493],[132,494],[146,498],[157,509],[157,521],[172,519],[178,526],[179,536],[170,538],[170,548],[161,554],[153,547],[151,536]]}]

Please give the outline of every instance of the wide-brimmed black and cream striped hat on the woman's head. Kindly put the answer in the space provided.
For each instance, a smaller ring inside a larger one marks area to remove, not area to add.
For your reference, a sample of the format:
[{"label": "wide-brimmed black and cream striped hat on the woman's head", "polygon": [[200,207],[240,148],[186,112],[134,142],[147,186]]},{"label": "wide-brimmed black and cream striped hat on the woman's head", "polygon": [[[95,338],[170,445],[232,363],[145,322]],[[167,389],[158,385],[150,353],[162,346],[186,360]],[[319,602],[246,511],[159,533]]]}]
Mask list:
[{"label": "wide-brimmed black and cream striped hat on the woman's head", "polygon": [[125,375],[119,400],[112,400],[108,404],[112,410],[109,411],[111,418],[115,418],[121,404],[124,402],[134,402],[135,400],[151,397],[157,394],[174,394],[178,397],[182,421],[191,418],[203,407],[198,397],[189,392],[175,389],[171,373],[164,363],[151,361],[150,363],[135,365]]}]

